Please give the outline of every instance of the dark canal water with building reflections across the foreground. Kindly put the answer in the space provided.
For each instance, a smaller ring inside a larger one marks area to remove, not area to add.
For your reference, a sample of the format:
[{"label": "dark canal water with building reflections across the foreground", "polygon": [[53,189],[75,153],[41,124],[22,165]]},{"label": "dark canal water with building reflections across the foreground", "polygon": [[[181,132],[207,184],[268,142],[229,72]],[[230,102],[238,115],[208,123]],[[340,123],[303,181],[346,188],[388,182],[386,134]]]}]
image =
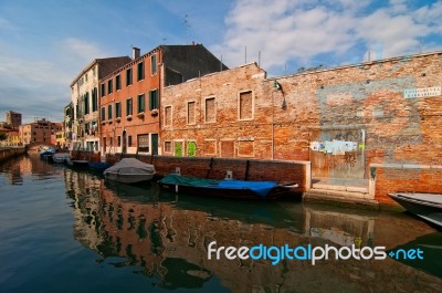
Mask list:
[{"label": "dark canal water with building reflections across the foreground", "polygon": [[[0,292],[442,292],[442,233],[406,212],[177,196],[32,155],[0,171]],[[263,252],[285,244],[304,250]],[[327,245],[414,252],[313,264]]]}]

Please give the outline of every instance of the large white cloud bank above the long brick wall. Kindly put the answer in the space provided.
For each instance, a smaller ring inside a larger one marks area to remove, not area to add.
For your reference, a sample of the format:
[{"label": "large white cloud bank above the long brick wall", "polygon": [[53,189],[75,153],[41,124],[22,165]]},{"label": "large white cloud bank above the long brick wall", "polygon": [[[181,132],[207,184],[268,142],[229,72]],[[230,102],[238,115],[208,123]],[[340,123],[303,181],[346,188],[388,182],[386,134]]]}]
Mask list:
[{"label": "large white cloud bank above the long brick wall", "polygon": [[344,62],[356,48],[376,48],[376,57],[418,52],[420,39],[442,33],[442,2],[417,10],[403,0],[375,10],[367,9],[370,4],[368,0],[238,0],[225,18],[224,41],[212,50],[230,66],[244,63],[245,46],[248,62],[257,61],[261,51],[262,66],[272,72],[291,60],[318,65],[308,63],[322,54]]}]

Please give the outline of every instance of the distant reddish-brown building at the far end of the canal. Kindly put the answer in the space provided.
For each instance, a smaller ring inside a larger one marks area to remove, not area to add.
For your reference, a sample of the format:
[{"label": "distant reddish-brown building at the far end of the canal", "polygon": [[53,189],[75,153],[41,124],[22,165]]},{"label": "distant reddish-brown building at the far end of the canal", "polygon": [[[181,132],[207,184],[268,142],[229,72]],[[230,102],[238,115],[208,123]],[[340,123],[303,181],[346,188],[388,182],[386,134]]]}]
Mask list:
[{"label": "distant reddish-brown building at the far end of the canal", "polygon": [[61,132],[62,128],[61,123],[52,123],[42,118],[33,123],[21,125],[19,127],[20,139],[24,145],[34,143],[54,145],[54,139],[51,142],[51,136],[55,136],[55,133]]}]

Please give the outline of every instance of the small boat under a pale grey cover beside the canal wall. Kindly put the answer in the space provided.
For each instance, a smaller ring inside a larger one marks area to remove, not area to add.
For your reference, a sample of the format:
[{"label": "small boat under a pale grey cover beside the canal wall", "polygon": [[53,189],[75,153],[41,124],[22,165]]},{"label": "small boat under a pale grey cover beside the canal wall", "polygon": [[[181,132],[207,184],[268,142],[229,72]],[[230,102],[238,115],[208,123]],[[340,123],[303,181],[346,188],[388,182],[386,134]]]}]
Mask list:
[{"label": "small boat under a pale grey cover beside the canal wall", "polygon": [[104,176],[106,179],[123,184],[136,184],[151,180],[155,176],[155,167],[135,158],[124,158],[107,168]]}]

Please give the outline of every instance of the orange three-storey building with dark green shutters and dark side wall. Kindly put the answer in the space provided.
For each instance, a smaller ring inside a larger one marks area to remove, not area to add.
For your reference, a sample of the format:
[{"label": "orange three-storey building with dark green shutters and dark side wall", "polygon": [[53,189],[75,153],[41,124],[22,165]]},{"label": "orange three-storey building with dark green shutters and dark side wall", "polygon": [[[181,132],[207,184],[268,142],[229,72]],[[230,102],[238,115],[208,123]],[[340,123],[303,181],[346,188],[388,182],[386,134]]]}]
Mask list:
[{"label": "orange three-storey building with dark green shutters and dark side wall", "polygon": [[161,45],[101,80],[102,154],[160,154],[159,107],[164,85],[225,70],[204,46]]}]

